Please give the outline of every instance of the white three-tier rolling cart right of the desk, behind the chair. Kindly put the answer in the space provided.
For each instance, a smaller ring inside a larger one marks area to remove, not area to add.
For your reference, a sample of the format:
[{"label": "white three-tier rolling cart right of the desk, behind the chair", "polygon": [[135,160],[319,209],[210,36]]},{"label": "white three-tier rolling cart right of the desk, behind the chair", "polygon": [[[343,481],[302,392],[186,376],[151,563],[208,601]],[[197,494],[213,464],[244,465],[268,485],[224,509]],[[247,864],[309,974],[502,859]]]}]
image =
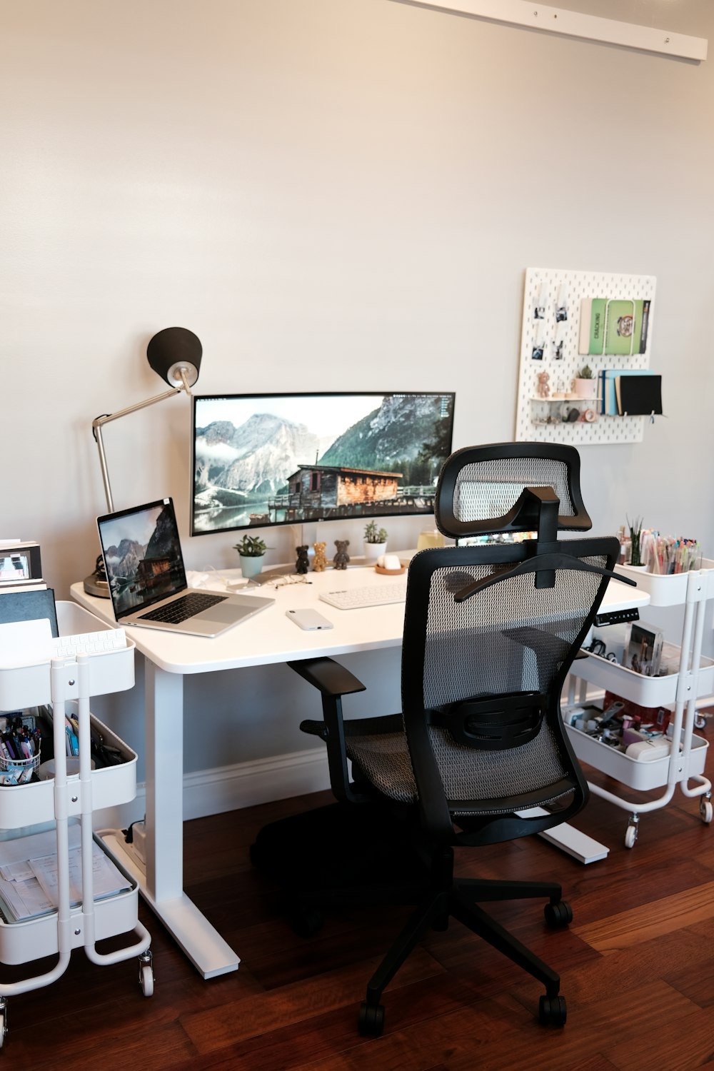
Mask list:
[{"label": "white three-tier rolling cart right of the desk, behind the chair", "polygon": [[[665,677],[645,677],[590,653],[584,659],[578,659],[571,673],[568,707],[573,706],[577,687],[573,678],[599,685],[644,707],[673,707],[670,754],[652,761],[632,758],[566,723],[571,743],[583,763],[635,791],[664,788],[657,799],[638,802],[617,796],[599,785],[590,785],[594,795],[629,812],[625,847],[632,848],[637,841],[639,815],[666,806],[678,786],[684,796],[699,798],[701,820],[707,825],[712,820],[712,785],[703,776],[709,743],[694,729],[697,700],[714,691],[714,663],[701,655],[707,601],[714,598],[714,561],[704,559],[702,568],[671,576],[647,573],[629,565],[618,565],[617,571],[636,580],[638,588],[650,594],[652,606],[684,605],[677,673]],[[678,740],[679,749],[674,744]]]}]

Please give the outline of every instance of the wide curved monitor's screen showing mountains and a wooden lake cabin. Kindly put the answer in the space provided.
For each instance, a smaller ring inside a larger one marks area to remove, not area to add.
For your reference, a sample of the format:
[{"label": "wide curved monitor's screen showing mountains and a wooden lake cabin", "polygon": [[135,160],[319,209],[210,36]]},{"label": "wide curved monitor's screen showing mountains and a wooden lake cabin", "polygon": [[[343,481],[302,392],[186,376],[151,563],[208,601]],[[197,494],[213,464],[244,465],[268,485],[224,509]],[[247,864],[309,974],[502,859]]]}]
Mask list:
[{"label": "wide curved monitor's screen showing mountains and a wooden lake cabin", "polygon": [[447,392],[194,396],[192,536],[431,513]]}]

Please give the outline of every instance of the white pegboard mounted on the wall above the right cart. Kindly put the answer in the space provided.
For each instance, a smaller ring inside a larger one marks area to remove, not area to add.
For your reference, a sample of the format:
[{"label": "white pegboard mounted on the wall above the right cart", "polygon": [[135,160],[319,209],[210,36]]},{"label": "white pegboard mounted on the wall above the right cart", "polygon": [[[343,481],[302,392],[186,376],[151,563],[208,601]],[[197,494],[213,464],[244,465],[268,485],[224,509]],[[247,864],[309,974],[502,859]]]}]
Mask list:
[{"label": "white pegboard mounted on the wall above the right cart", "polygon": [[[654,275],[618,275],[605,272],[566,271],[557,268],[529,268],[523,292],[523,323],[520,340],[518,375],[517,441],[591,443],[641,442],[647,417],[608,417],[599,413],[599,401],[542,401],[537,395],[538,373],[547,372],[550,394],[567,393],[576,372],[589,364],[595,377],[603,368],[649,368],[654,325]],[[580,303],[583,299],[610,298],[649,299],[650,318],[644,353],[627,357],[588,357],[578,353]],[[564,301],[567,319],[557,322],[556,306]],[[544,317],[535,319],[536,304],[543,305]],[[543,342],[543,359],[534,360],[533,350]],[[562,358],[556,357],[557,351]],[[584,412],[592,409],[595,420],[587,423],[559,422],[568,409]],[[543,423],[547,417],[550,423]]]}]

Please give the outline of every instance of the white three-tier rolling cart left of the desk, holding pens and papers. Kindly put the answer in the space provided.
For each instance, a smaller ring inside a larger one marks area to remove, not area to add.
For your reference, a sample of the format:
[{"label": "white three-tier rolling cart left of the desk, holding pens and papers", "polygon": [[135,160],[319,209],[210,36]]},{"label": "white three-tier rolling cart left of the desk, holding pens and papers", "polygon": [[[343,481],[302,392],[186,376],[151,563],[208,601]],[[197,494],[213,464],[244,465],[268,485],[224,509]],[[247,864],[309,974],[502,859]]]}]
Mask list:
[{"label": "white three-tier rolling cart left of the desk, holding pens and papers", "polygon": [[[102,632],[109,627],[74,603],[58,603],[60,635]],[[138,921],[138,887],[125,872],[122,891],[94,900],[94,810],[130,802],[136,795],[136,754],[89,710],[90,696],[123,691],[134,684],[134,644],[106,653],[54,658],[33,665],[2,665],[0,655],[0,711],[14,711],[51,704],[55,743],[55,776],[39,783],[0,786],[0,827],[6,839],[0,843],[6,862],[32,858],[33,845],[46,845],[52,830],[57,850],[58,910],[22,921],[0,920],[0,962],[29,963],[58,955],[55,967],[24,981],[0,983],[0,1046],[7,1028],[7,998],[56,981],[67,968],[74,948],[100,965],[139,957],[139,982],[145,996],[153,993],[151,937]],[[76,700],[79,723],[79,772],[67,774],[65,754],[65,704]],[[92,729],[123,759],[116,766],[92,770]],[[52,829],[54,827],[54,829]],[[76,835],[78,834],[78,835]],[[81,903],[73,907],[70,896],[70,847],[81,846]],[[118,951],[97,952],[95,942],[134,931],[136,944]]]}]

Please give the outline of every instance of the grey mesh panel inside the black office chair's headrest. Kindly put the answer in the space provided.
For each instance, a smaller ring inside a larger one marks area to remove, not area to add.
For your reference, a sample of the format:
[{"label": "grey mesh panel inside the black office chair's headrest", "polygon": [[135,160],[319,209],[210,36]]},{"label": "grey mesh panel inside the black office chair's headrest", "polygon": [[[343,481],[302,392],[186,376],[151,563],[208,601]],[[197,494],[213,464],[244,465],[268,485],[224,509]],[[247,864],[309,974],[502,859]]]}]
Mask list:
[{"label": "grey mesh panel inside the black office chair's headrest", "polygon": [[513,457],[474,462],[456,478],[454,516],[461,522],[500,517],[518,501],[525,487],[552,487],[560,499],[560,515],[576,514],[564,462],[540,457]]}]

